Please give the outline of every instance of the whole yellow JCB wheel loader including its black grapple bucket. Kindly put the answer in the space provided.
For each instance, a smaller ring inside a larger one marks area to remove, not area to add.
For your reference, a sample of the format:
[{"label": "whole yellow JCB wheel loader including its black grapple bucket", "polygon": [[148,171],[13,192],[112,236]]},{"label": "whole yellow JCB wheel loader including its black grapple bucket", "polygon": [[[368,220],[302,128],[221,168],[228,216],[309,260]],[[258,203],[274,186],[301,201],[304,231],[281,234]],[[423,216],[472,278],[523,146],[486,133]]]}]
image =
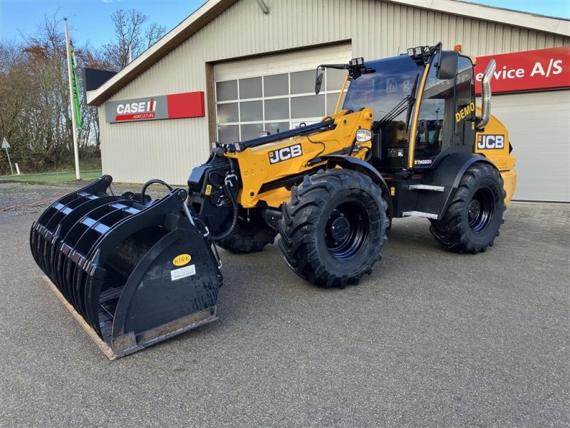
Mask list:
[{"label": "whole yellow JCB wheel loader including its black grapple bucket", "polygon": [[[160,180],[115,195],[104,175],[33,223],[31,251],[111,358],[217,318],[216,245],[234,253],[274,242],[297,275],[323,287],[372,272],[393,218],[430,220],[445,250],[493,245],[517,174],[509,133],[475,106],[475,58],[441,44],[347,71],[336,113],[318,123],[217,143],[188,190]],[[170,193],[151,200],[148,185]]]}]

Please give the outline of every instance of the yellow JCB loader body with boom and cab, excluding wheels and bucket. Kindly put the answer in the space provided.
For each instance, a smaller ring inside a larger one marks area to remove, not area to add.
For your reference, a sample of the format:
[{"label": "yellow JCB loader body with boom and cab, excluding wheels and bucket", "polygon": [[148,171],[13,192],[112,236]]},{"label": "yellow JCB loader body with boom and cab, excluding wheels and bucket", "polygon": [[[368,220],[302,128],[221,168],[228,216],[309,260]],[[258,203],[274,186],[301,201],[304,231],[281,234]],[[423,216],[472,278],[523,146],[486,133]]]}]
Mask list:
[{"label": "yellow JCB loader body with boom and cab, excluding wheels and bucket", "polygon": [[[475,129],[471,58],[457,55],[457,73],[438,78],[439,58],[436,52],[430,58],[404,55],[367,62],[370,71],[352,79],[343,110],[323,118],[311,133],[298,128],[218,148],[209,163],[199,167],[202,174],[190,176],[195,208],[201,217],[212,218],[208,224],[214,232],[227,226],[217,207],[202,205],[212,188],[207,171],[209,165],[217,165],[217,158],[232,160],[234,172],[239,170],[237,201],[242,213],[280,212],[291,198],[292,186],[300,185],[305,175],[335,167],[358,170],[378,183],[388,200],[389,218],[420,215],[440,220],[460,178],[474,162],[499,169],[507,183],[508,203],[516,180],[508,132],[495,118],[483,131]],[[371,129],[371,141],[355,141],[361,128]],[[476,136],[483,141],[499,134],[502,145],[475,146]],[[346,158],[361,163],[343,161]]]}]

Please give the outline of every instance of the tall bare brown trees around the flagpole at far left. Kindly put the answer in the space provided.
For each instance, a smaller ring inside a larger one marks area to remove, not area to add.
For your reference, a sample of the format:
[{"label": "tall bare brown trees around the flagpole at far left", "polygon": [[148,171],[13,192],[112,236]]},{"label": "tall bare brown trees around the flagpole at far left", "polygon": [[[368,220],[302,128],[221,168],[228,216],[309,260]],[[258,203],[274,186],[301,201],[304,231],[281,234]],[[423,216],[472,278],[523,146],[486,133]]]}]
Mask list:
[{"label": "tall bare brown trees around the flagpole at far left", "polygon": [[[61,21],[44,19],[36,36],[21,44],[0,44],[0,133],[11,157],[26,171],[72,165],[73,131],[67,79],[67,51]],[[81,66],[91,58],[76,49]],[[80,73],[81,76],[81,73]],[[78,135],[81,158],[98,152],[96,108],[81,99],[83,128]],[[1,155],[0,155],[1,158]],[[0,161],[0,170],[6,171]]]}]

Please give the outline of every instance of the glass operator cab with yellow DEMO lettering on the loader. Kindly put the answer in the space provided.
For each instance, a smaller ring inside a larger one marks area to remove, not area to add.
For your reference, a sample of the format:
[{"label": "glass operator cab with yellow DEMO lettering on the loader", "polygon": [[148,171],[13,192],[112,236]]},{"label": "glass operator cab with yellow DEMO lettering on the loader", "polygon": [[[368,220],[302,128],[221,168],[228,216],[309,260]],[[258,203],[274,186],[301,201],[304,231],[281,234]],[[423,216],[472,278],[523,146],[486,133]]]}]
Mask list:
[{"label": "glass operator cab with yellow DEMO lettering on the loader", "polygon": [[432,168],[447,153],[473,152],[472,61],[437,47],[366,62],[368,72],[351,78],[343,109],[373,108],[370,162],[381,173]]}]

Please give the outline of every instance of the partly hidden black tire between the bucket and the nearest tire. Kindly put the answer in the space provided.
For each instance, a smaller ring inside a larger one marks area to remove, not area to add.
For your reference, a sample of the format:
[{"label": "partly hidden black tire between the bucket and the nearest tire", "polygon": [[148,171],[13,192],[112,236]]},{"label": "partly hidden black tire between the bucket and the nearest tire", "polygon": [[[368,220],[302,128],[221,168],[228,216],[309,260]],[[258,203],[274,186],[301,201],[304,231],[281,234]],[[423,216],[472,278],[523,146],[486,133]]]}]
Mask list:
[{"label": "partly hidden black tire between the bucket and the nearest tire", "polygon": [[253,216],[249,221],[238,218],[234,231],[216,244],[232,253],[254,253],[264,249],[275,241],[277,231],[269,227],[260,216]]}]

